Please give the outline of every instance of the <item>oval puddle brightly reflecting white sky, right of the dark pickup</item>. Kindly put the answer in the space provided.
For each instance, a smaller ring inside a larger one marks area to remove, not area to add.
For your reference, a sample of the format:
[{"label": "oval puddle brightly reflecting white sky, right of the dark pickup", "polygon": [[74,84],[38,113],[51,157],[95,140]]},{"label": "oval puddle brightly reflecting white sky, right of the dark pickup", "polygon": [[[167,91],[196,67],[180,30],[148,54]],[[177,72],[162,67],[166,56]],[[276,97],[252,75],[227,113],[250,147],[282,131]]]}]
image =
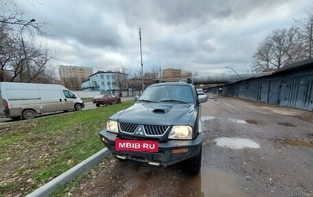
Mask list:
[{"label": "oval puddle brightly reflecting white sky, right of the dark pickup", "polygon": [[242,139],[242,138],[228,138],[228,137],[219,137],[214,139],[217,146],[231,148],[231,149],[242,149],[242,148],[260,148],[258,143],[255,143],[251,139]]}]

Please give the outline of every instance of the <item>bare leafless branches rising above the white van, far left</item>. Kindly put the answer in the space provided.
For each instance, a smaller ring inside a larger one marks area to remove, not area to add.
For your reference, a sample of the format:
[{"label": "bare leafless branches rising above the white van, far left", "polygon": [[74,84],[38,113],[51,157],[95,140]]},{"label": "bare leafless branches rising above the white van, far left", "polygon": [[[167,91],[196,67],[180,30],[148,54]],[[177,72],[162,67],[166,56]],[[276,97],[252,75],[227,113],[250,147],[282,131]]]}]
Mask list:
[{"label": "bare leafless branches rising above the white van, far left", "polygon": [[[36,38],[47,38],[43,27],[47,24],[25,20],[24,13],[12,1],[0,5],[0,81],[10,82],[51,82],[56,80],[56,73],[48,62],[56,56]],[[23,51],[24,40],[26,58]],[[29,71],[29,72],[28,72]],[[54,75],[53,75],[54,73]],[[30,77],[29,77],[30,76]]]}]

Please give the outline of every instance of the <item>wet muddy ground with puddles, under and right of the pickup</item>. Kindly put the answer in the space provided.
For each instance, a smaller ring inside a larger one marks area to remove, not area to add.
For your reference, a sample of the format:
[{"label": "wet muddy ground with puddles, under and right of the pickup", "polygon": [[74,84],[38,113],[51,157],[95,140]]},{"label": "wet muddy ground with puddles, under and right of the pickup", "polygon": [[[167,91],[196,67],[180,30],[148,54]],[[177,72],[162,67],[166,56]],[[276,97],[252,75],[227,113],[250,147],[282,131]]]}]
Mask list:
[{"label": "wet muddy ground with puddles, under and right of the pickup", "polygon": [[[108,157],[64,196],[313,196],[312,112],[208,97],[198,176]],[[222,138],[257,146],[218,146]]]}]

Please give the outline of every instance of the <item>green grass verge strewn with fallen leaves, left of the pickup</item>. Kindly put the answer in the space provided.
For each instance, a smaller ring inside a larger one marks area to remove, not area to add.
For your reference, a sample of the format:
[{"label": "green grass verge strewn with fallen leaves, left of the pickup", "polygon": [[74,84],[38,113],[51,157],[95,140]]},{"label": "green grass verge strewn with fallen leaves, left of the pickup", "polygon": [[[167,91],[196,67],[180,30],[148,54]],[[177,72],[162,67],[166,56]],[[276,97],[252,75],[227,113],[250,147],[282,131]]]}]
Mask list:
[{"label": "green grass verge strewn with fallen leaves, left of the pickup", "polygon": [[0,196],[25,196],[95,154],[108,117],[123,102],[0,126]]}]

